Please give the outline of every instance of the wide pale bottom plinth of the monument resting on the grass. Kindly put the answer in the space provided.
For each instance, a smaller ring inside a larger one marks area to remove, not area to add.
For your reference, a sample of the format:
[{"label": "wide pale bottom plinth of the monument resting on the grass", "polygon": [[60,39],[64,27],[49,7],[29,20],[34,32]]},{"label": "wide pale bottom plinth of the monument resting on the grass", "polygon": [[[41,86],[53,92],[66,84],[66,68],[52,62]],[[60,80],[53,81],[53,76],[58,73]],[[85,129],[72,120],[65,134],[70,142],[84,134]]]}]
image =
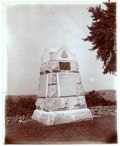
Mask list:
[{"label": "wide pale bottom plinth of the monument resting on the grass", "polygon": [[32,119],[45,125],[57,125],[82,120],[92,120],[92,114],[88,108],[66,111],[46,112],[36,109]]}]

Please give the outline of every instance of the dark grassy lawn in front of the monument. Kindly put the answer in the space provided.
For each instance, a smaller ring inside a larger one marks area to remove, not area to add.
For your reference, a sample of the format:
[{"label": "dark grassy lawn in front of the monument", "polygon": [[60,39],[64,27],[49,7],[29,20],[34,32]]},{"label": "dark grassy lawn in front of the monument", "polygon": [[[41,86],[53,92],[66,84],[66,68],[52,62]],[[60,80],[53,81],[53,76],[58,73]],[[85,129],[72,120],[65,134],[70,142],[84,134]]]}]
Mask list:
[{"label": "dark grassy lawn in front of the monument", "polygon": [[6,127],[6,144],[105,144],[117,143],[116,116],[96,117],[46,126],[33,120]]}]

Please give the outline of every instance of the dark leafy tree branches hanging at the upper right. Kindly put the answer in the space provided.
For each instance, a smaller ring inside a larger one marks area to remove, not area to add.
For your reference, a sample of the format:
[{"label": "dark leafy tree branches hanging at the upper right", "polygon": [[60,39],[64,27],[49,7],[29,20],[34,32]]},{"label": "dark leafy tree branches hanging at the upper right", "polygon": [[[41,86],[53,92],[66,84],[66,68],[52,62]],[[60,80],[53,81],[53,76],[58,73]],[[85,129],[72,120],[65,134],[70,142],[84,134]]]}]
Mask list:
[{"label": "dark leafy tree branches hanging at the upper right", "polygon": [[83,40],[92,42],[89,50],[97,50],[96,59],[103,61],[103,74],[116,75],[116,3],[104,4],[106,10],[101,5],[88,9],[92,13],[92,25],[87,26],[90,35]]}]

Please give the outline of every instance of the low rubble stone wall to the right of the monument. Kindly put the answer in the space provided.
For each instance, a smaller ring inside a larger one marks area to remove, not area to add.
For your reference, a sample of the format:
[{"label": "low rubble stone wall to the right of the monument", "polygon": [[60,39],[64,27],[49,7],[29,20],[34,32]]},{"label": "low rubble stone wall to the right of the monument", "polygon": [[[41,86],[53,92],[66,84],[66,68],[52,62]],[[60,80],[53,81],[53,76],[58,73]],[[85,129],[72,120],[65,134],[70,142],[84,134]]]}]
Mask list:
[{"label": "low rubble stone wall to the right of the monument", "polygon": [[117,115],[117,106],[94,106],[88,107],[93,117],[100,117],[102,115]]}]

